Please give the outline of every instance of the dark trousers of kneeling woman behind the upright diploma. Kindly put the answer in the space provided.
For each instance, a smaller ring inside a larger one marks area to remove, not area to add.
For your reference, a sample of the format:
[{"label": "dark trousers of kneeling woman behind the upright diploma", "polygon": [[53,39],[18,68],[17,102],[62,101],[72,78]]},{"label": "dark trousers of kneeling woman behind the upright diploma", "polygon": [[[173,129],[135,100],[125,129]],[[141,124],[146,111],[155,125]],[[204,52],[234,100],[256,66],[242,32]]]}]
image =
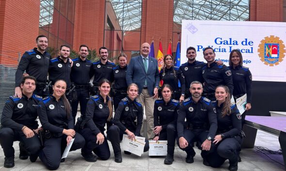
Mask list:
[{"label": "dark trousers of kneeling woman behind the upright diploma", "polygon": [[168,124],[166,129],[162,129],[159,133],[159,140],[167,140],[167,154],[174,155],[176,139],[175,124]]}]

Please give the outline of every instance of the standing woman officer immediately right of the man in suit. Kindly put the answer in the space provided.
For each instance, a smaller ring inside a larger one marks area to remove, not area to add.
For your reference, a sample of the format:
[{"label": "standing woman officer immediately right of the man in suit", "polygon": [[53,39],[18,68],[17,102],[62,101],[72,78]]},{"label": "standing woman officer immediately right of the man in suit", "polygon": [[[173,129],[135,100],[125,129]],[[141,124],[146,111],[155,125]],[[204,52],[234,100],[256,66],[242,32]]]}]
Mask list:
[{"label": "standing woman officer immediately right of the man in suit", "polygon": [[[174,90],[173,99],[183,101],[186,87],[185,78],[182,71],[178,67],[173,66],[173,57],[171,55],[164,56],[164,66],[159,75],[161,82],[163,82],[162,85],[171,85]],[[181,91],[179,90],[178,81],[181,84]]]}]

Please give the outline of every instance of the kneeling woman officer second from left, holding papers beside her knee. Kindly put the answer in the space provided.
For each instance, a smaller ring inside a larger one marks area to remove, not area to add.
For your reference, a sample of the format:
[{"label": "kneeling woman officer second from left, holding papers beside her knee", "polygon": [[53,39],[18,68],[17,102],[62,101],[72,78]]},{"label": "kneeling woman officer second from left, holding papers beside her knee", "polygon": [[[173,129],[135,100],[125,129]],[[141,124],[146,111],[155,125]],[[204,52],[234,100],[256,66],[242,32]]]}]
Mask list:
[{"label": "kneeling woman officer second from left, holding papers beside her knee", "polygon": [[74,130],[71,107],[65,97],[66,82],[58,80],[53,85],[53,94],[43,99],[39,119],[45,130],[44,148],[39,158],[49,170],[60,166],[67,144],[74,138],[70,151],[83,147],[84,138]]}]

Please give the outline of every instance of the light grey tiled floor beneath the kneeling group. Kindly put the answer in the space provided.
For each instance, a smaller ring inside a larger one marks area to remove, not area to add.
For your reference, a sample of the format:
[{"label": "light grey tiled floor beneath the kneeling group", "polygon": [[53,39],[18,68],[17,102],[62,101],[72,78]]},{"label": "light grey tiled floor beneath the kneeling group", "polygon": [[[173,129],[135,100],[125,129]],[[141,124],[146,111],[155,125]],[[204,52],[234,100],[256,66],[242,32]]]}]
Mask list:
[{"label": "light grey tiled floor beneath the kneeling group", "polygon": [[[15,147],[15,167],[6,169],[3,167],[4,155],[0,149],[0,171],[44,171],[47,170],[41,163],[39,158],[35,163],[31,163],[29,159],[20,160],[18,142],[14,143]],[[256,146],[267,147],[270,150],[277,151],[280,149],[278,137],[258,131],[256,137]],[[148,157],[148,152],[144,153],[142,157],[135,155],[125,155],[122,153],[123,162],[115,163],[114,155],[111,149],[111,157],[109,160],[97,160],[94,163],[86,162],[80,155],[80,150],[71,152],[61,163],[58,170],[69,171],[227,171],[228,161],[226,161],[222,168],[214,169],[203,165],[203,160],[200,156],[200,151],[195,148],[197,155],[194,157],[194,163],[188,164],[185,162],[185,152],[180,150],[177,146],[175,148],[175,161],[172,165],[165,165],[163,163],[164,157]],[[269,155],[258,153],[255,149],[243,149],[241,151],[242,162],[238,163],[239,171],[283,171],[285,170],[282,155]]]}]

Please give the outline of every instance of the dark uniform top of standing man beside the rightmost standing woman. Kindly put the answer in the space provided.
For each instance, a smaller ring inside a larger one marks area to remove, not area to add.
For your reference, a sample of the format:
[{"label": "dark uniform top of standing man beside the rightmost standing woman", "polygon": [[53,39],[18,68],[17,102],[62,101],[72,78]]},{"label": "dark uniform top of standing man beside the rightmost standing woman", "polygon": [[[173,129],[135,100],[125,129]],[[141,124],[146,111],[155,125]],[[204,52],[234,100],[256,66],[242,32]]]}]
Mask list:
[{"label": "dark uniform top of standing man beside the rightmost standing woman", "polygon": [[230,96],[233,92],[232,74],[229,68],[225,65],[217,65],[213,62],[207,66],[207,64],[202,68],[203,78],[204,78],[204,96],[208,99],[215,101],[215,90],[219,85],[226,85],[229,88]]}]

